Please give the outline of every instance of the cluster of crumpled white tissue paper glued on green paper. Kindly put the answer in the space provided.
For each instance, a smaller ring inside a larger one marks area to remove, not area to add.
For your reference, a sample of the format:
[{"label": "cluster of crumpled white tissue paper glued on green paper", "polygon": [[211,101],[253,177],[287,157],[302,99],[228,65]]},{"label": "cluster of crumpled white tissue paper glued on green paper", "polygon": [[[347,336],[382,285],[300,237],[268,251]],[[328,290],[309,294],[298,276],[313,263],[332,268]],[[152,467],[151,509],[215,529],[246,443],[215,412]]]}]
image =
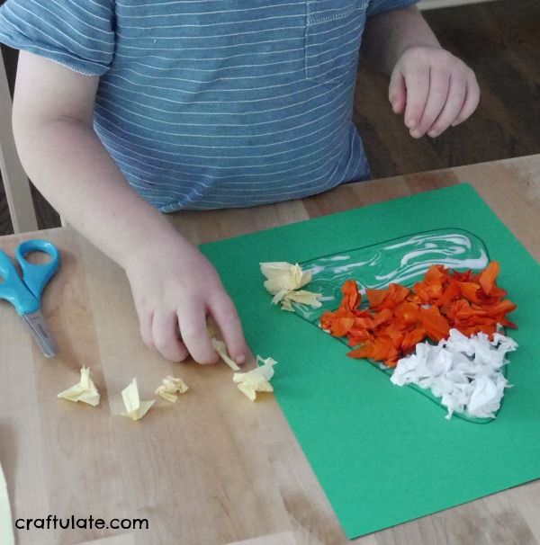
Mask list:
[{"label": "cluster of crumpled white tissue paper glued on green paper", "polygon": [[455,412],[495,418],[504,389],[510,387],[502,374],[509,362],[506,354],[516,348],[513,339],[500,333],[490,341],[483,333],[467,337],[451,329],[439,344],[417,344],[416,353],[401,358],[390,380],[398,386],[431,389],[447,407],[448,419]]}]

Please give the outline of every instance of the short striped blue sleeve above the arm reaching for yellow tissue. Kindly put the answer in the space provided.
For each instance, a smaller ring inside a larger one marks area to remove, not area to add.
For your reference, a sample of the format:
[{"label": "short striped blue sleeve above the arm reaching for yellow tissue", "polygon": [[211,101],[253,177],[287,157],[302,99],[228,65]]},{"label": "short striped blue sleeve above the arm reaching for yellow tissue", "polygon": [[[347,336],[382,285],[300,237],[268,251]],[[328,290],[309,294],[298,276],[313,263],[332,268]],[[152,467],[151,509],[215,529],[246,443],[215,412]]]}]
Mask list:
[{"label": "short striped blue sleeve above the arm reaching for yellow tissue", "polygon": [[113,0],[7,0],[0,42],[101,76],[114,56]]}]

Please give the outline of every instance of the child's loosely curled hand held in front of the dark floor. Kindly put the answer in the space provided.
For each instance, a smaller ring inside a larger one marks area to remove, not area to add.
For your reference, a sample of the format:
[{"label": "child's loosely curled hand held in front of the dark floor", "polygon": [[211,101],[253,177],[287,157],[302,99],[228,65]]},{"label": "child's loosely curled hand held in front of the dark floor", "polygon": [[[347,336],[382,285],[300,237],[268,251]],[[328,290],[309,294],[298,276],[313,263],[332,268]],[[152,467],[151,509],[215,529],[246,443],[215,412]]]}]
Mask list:
[{"label": "child's loosely curled hand held in front of the dark floor", "polygon": [[394,112],[405,112],[411,137],[437,137],[476,110],[480,89],[473,70],[445,49],[413,47],[393,68],[388,97]]}]

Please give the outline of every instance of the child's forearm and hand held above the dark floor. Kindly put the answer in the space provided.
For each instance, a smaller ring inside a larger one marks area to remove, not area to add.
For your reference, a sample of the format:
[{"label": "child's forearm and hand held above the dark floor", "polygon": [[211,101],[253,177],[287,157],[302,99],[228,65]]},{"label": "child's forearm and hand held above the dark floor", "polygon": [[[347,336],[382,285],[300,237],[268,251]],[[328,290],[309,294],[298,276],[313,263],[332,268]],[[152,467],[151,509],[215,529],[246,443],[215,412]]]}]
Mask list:
[{"label": "child's forearm and hand held above the dark floor", "polygon": [[473,70],[441,48],[416,7],[371,17],[362,49],[392,75],[389,100],[394,112],[405,112],[413,138],[437,137],[476,110],[480,89]]}]

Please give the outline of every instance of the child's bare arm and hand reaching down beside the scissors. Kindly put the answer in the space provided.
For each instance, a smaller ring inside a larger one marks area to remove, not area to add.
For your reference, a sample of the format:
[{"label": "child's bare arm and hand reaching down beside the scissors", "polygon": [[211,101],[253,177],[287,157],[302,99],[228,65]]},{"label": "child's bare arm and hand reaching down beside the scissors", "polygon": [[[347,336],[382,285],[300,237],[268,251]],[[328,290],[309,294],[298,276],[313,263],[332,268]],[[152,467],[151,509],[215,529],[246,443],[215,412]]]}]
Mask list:
[{"label": "child's bare arm and hand reaching down beside the scissors", "polygon": [[14,136],[26,172],[70,225],[124,268],[146,344],[169,360],[189,352],[197,362],[215,362],[209,313],[231,357],[242,362],[246,342],[217,272],[130,188],[97,138],[98,80],[21,51]]}]

